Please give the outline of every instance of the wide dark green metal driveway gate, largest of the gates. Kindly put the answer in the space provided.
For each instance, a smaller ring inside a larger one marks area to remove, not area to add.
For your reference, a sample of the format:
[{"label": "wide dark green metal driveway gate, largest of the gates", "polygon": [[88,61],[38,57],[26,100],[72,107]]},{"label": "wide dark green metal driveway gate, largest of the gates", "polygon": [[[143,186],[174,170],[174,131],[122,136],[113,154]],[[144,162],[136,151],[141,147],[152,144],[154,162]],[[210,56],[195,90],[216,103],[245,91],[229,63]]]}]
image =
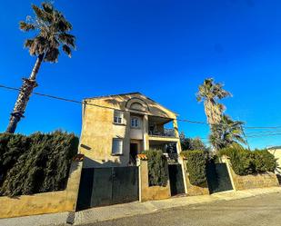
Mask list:
[{"label": "wide dark green metal driveway gate, largest of the gates", "polygon": [[128,201],[138,201],[138,167],[82,170],[77,211]]}]

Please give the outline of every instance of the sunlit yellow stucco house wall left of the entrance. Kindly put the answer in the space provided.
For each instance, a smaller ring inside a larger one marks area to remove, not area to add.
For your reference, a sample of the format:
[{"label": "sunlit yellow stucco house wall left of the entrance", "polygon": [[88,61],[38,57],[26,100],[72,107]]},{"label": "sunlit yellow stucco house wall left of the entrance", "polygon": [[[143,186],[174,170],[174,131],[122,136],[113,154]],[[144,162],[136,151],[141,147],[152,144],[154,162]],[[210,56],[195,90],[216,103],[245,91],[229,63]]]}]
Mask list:
[{"label": "sunlit yellow stucco house wall left of the entrance", "polygon": [[[83,117],[80,152],[85,154],[85,167],[113,166],[128,160],[112,156],[112,139],[125,138],[126,126],[113,123],[114,110],[86,105]],[[126,123],[126,121],[124,122]],[[124,145],[127,143],[124,142]],[[85,148],[86,147],[86,148]],[[124,150],[128,147],[124,146]]]}]

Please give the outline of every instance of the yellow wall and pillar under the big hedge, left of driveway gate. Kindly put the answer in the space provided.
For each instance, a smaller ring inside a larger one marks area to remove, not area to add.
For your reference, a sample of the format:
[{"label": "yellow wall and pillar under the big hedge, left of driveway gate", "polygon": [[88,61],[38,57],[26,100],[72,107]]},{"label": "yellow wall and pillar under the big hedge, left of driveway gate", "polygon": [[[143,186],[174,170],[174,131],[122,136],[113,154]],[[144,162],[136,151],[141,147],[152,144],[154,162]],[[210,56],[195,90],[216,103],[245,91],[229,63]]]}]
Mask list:
[{"label": "yellow wall and pillar under the big hedge, left of driveway gate", "polygon": [[0,218],[75,211],[82,162],[73,162],[65,191],[0,197]]}]

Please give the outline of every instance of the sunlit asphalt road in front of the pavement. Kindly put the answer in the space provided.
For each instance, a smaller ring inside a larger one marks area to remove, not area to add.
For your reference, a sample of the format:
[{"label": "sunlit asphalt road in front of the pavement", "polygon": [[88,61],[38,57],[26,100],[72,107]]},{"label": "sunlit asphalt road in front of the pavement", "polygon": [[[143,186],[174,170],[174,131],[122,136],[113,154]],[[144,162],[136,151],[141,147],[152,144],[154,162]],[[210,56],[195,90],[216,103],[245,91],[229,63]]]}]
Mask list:
[{"label": "sunlit asphalt road in front of the pavement", "polygon": [[87,226],[281,226],[281,193],[216,201]]}]

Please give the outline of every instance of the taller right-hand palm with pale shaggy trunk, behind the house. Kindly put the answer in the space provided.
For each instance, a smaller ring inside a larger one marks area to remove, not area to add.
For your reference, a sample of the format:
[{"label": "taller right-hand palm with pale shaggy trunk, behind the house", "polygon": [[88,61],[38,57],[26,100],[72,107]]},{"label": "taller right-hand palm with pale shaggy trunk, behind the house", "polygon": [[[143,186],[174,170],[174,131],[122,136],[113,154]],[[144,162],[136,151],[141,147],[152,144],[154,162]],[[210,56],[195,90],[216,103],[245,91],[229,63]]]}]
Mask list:
[{"label": "taller right-hand palm with pale shaggy trunk, behind the house", "polygon": [[218,100],[231,96],[231,93],[223,89],[223,84],[216,84],[213,78],[208,78],[199,86],[196,93],[197,102],[204,102],[207,122],[211,125],[221,121],[225,106]]}]

